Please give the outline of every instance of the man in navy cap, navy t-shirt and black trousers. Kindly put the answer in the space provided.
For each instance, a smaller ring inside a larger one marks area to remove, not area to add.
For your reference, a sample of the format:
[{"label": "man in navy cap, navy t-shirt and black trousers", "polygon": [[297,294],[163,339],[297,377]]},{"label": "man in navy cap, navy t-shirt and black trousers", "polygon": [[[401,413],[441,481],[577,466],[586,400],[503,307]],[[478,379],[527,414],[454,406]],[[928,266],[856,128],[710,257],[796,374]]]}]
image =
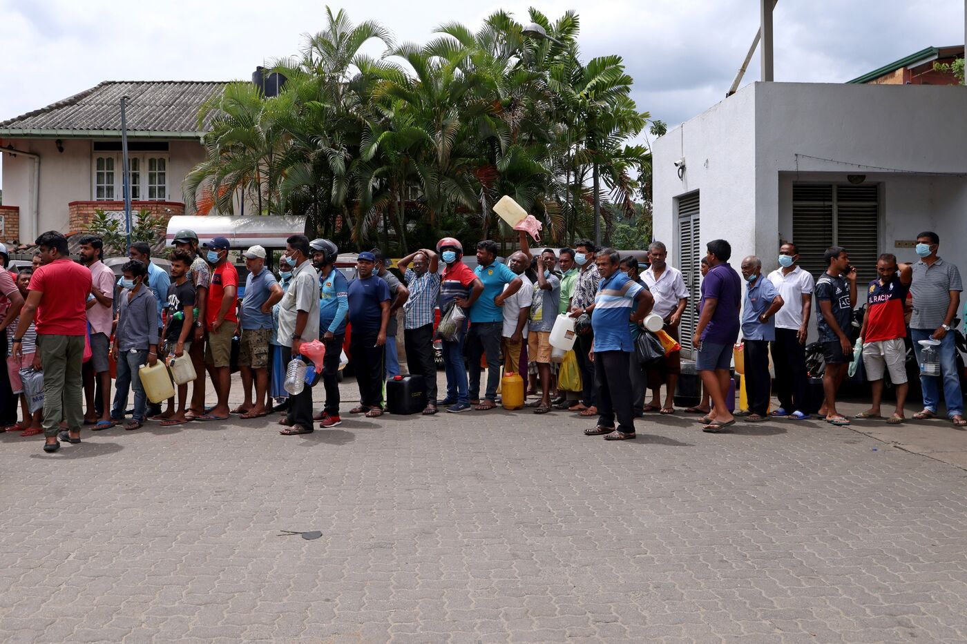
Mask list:
[{"label": "man in navy cap, navy t-shirt and black trousers", "polygon": [[386,329],[390,324],[390,287],[374,272],[376,256],[364,250],[356,260],[359,278],[349,284],[351,351],[360,404],[350,414],[383,415]]}]

